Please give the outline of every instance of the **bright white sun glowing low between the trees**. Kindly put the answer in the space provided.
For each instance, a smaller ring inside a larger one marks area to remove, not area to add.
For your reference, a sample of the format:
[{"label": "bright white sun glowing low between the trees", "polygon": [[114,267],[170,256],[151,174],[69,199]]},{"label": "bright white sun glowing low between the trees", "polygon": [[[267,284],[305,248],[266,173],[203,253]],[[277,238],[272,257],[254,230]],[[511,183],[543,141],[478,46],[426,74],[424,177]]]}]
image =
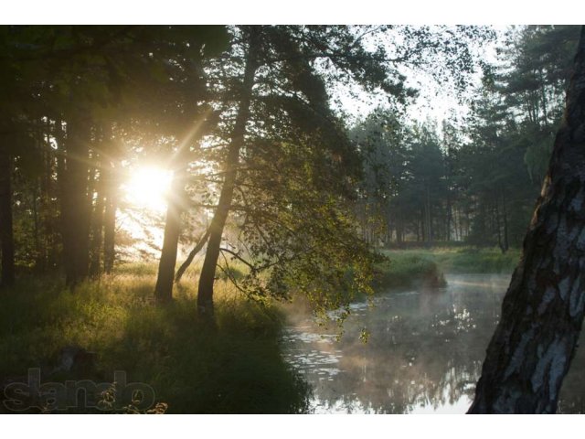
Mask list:
[{"label": "bright white sun glowing low between the trees", "polygon": [[123,185],[125,198],[136,208],[162,213],[166,209],[166,196],[173,173],[154,166],[133,169]]}]

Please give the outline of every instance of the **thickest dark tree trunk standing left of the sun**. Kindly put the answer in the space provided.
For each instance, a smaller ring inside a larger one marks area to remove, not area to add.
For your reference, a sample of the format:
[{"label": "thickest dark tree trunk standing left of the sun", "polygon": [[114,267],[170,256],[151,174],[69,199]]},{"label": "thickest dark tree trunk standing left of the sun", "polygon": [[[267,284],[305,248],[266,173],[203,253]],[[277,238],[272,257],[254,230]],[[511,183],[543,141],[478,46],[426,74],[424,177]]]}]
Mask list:
[{"label": "thickest dark tree trunk standing left of the sun", "polygon": [[89,141],[89,121],[79,118],[68,122],[61,225],[65,282],[69,286],[87,277],[89,270],[90,205],[87,195]]}]

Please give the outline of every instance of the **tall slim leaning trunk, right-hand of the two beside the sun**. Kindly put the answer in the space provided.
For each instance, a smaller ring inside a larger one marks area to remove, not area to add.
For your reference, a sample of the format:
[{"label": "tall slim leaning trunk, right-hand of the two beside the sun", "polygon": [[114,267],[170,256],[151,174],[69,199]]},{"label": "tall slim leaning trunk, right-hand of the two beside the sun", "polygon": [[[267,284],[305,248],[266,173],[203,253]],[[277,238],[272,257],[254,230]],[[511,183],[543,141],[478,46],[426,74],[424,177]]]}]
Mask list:
[{"label": "tall slim leaning trunk, right-hand of the two beside the sun", "polygon": [[256,50],[259,44],[259,30],[257,27],[250,27],[250,46],[246,55],[246,67],[244,69],[244,80],[242,84],[242,94],[239,101],[238,116],[234,124],[231,141],[228,147],[228,156],[226,158],[225,179],[221,193],[219,195],[218,208],[215,211],[211,224],[209,225],[209,241],[207,242],[207,252],[197,291],[197,309],[199,315],[213,316],[213,284],[216,276],[216,268],[219,257],[219,247],[223,229],[228,219],[229,206],[233,198],[234,187],[239,166],[239,150],[244,144],[244,134],[246,133],[246,124],[250,117],[250,102],[252,87],[254,85],[254,75],[258,69],[258,60]]}]

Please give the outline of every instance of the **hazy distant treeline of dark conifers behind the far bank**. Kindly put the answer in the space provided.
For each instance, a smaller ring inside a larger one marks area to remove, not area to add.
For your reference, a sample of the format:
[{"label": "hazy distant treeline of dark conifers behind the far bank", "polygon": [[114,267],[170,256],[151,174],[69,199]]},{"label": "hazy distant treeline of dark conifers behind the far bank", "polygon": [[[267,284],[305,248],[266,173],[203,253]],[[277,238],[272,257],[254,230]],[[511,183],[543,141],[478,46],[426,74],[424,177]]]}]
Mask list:
[{"label": "hazy distant treeline of dark conifers behind the far bank", "polygon": [[357,216],[375,245],[519,246],[564,108],[580,27],[511,30],[472,111],[442,126],[379,110],[353,128],[365,157]]}]

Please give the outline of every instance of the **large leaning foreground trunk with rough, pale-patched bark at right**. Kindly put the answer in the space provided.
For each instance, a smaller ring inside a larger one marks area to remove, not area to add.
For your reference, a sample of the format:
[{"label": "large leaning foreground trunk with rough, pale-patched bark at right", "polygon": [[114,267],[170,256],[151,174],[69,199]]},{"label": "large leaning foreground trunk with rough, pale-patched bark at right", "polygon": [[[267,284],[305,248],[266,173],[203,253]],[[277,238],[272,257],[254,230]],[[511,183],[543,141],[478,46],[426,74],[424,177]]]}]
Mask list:
[{"label": "large leaning foreground trunk with rough, pale-patched bark at right", "polygon": [[585,307],[585,27],[563,123],[470,413],[554,413]]}]

